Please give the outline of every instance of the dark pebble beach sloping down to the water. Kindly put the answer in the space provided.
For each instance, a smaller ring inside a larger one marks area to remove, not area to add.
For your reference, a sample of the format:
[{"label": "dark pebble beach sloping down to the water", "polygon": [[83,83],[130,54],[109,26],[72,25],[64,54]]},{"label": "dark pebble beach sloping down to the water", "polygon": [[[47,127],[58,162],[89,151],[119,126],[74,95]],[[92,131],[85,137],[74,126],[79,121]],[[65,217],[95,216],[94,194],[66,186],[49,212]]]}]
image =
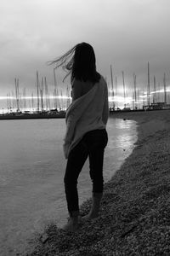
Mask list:
[{"label": "dark pebble beach sloping down to the water", "polygon": [[[111,116],[137,121],[138,141],[105,183],[99,218],[81,224],[75,234],[49,225],[27,256],[170,253],[170,110]],[[90,204],[90,199],[82,204],[82,216]]]}]

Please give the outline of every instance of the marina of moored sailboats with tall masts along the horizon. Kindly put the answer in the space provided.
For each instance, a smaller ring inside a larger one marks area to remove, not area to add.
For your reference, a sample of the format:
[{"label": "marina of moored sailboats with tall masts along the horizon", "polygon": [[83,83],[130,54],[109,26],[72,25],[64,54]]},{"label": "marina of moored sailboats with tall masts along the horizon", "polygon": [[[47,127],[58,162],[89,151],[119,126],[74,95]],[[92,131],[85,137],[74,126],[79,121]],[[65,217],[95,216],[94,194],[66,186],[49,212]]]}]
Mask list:
[{"label": "marina of moored sailboats with tall masts along the horizon", "polygon": [[[54,69],[54,84],[36,73],[36,90],[31,96],[28,89],[20,85],[20,79],[14,79],[14,90],[7,93],[0,109],[1,119],[54,119],[65,118],[65,111],[71,104],[71,85],[57,83]],[[162,110],[170,108],[170,85],[166,73],[162,81],[153,82],[150,75],[150,62],[147,63],[147,84],[138,84],[138,76],[133,73],[133,83],[127,84],[126,73],[119,78],[111,66],[111,79],[105,78],[108,86],[110,113],[128,111]],[[118,83],[119,80],[119,83]],[[121,81],[120,81],[121,80]],[[141,82],[140,82],[141,83]]]}]

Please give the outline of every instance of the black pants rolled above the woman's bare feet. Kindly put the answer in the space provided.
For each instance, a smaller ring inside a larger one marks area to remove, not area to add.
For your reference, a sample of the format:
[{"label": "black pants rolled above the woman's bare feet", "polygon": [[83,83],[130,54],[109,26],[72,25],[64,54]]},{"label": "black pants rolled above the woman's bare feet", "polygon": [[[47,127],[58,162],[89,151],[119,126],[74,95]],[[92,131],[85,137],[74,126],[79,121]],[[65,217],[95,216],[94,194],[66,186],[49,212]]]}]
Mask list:
[{"label": "black pants rolled above the woman's bare feet", "polygon": [[103,160],[108,137],[105,129],[88,131],[82,140],[69,154],[65,170],[65,195],[68,211],[79,211],[77,179],[82,166],[89,158],[90,177],[93,182],[93,192],[103,192]]}]

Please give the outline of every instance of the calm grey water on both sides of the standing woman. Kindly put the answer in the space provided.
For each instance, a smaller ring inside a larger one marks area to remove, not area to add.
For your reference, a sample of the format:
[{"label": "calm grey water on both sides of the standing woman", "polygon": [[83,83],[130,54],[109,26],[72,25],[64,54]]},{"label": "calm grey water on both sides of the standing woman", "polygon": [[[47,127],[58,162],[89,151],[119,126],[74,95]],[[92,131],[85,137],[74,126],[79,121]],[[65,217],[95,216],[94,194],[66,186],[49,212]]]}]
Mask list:
[{"label": "calm grey water on both sides of the standing woman", "polygon": [[[132,153],[136,122],[109,119],[105,149],[105,182]],[[26,248],[32,233],[48,223],[65,223],[67,208],[62,140],[65,119],[0,121],[0,255],[14,256]],[[80,203],[91,195],[88,160],[79,183]]]}]

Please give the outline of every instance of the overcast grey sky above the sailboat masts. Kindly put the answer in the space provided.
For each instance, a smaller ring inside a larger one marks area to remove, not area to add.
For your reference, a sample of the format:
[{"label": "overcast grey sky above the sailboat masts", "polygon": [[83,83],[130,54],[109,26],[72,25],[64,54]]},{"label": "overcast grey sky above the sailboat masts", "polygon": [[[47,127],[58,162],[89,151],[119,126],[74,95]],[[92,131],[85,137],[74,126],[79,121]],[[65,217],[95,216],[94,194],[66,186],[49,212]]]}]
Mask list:
[{"label": "overcast grey sky above the sailboat masts", "polygon": [[133,73],[137,86],[147,84],[150,61],[151,83],[166,73],[169,84],[169,24],[169,0],[0,0],[0,96],[14,90],[14,78],[34,90],[37,70],[53,84],[46,62],[83,41],[108,82],[112,65],[120,86],[122,70],[127,86]]}]

